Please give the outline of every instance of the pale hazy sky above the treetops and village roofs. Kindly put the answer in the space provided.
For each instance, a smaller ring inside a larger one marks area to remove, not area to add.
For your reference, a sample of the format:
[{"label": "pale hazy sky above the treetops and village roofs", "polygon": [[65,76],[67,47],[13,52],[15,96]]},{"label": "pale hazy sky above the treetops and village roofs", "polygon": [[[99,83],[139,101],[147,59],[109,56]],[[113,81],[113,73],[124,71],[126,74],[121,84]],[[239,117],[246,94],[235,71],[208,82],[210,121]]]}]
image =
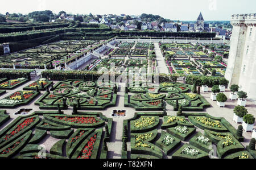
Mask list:
[{"label": "pale hazy sky above the treetops and village roofs", "polygon": [[196,20],[202,12],[204,20],[230,20],[233,14],[256,13],[255,0],[7,0],[0,13],[28,14],[51,10],[58,14],[154,14],[171,20]]}]

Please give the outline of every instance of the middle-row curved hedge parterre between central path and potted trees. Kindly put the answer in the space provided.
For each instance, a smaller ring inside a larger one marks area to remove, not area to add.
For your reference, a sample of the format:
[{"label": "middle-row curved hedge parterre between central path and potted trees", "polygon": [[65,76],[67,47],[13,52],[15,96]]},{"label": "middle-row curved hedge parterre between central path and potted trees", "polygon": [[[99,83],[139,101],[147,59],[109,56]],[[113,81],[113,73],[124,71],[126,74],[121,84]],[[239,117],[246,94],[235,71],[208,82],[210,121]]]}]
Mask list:
[{"label": "middle-row curved hedge parterre between central path and potted trees", "polygon": [[177,110],[176,100],[185,111],[203,111],[210,104],[199,94],[191,92],[191,86],[177,82],[163,82],[159,87],[150,84],[129,84],[125,94],[125,107],[136,110],[162,110],[164,101]]}]

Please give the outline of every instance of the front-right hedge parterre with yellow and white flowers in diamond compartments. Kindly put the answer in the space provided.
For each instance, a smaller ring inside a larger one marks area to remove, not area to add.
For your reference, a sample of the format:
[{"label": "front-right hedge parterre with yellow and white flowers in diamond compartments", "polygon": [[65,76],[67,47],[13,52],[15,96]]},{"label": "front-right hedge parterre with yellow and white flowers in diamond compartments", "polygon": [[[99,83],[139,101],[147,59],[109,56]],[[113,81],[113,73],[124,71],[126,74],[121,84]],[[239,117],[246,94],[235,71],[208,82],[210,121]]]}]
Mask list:
[{"label": "front-right hedge parterre with yellow and white flowers in diamond compartments", "polygon": [[[127,154],[128,150],[122,151],[122,158],[209,158],[209,146],[212,144],[217,146],[219,158],[238,157],[242,152],[252,158],[238,142],[236,129],[224,118],[212,117],[207,113],[183,113],[183,116],[164,116],[164,118],[162,116],[157,113],[152,115],[136,113],[133,118],[123,122],[123,127],[130,127],[128,131],[130,136],[126,137],[123,132],[123,139],[126,138],[127,142],[131,142],[131,155]],[[213,127],[212,121],[200,126],[190,117],[205,117],[220,121],[218,125],[221,126]],[[161,119],[162,121],[159,121]],[[208,126],[214,131],[207,130]],[[232,140],[234,143],[226,144],[226,140]]]}]

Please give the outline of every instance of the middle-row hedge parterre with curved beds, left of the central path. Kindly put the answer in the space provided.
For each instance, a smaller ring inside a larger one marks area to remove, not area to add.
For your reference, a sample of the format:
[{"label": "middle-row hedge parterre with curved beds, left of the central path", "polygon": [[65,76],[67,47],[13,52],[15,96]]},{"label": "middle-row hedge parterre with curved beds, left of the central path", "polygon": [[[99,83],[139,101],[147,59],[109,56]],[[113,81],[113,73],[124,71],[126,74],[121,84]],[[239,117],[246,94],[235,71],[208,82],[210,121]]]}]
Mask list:
[{"label": "middle-row hedge parterre with curved beds, left of the central path", "polygon": [[79,110],[104,110],[115,106],[117,94],[113,93],[114,84],[83,80],[60,81],[35,102],[40,109],[62,109],[76,104]]}]

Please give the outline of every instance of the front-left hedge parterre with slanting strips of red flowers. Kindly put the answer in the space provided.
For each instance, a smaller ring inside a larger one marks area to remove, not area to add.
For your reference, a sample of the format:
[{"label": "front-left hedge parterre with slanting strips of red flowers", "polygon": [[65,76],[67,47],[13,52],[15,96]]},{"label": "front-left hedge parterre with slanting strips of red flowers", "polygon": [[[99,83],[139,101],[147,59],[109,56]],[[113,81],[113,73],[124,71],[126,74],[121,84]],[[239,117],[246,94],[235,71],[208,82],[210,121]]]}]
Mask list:
[{"label": "front-left hedge parterre with slanting strips of red flowers", "polygon": [[[105,125],[108,125],[108,135],[105,134]],[[106,159],[108,150],[102,148],[102,143],[104,140],[109,141],[111,131],[112,119],[102,113],[78,112],[76,115],[66,115],[57,111],[38,111],[17,117],[0,131],[0,157]],[[46,135],[47,132],[50,136]],[[53,144],[46,157],[40,156],[39,144],[51,138],[61,140]],[[85,150],[85,147],[89,150]]]}]

